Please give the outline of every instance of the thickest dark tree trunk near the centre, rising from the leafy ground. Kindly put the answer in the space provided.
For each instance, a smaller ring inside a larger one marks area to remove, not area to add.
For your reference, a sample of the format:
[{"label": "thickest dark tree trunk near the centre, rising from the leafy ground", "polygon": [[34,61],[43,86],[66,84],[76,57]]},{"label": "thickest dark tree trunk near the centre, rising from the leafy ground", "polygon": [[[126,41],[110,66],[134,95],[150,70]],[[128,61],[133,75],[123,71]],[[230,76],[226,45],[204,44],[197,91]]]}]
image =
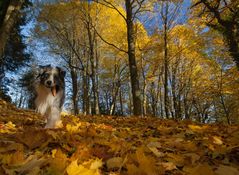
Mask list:
[{"label": "thickest dark tree trunk near the centre, rising from the leafy ground", "polygon": [[125,0],[126,6],[126,22],[127,22],[127,41],[128,41],[128,59],[129,59],[129,70],[131,79],[131,91],[133,96],[133,113],[136,116],[142,114],[141,99],[140,99],[140,88],[137,64],[135,58],[135,31],[133,23],[133,6],[130,0]]}]

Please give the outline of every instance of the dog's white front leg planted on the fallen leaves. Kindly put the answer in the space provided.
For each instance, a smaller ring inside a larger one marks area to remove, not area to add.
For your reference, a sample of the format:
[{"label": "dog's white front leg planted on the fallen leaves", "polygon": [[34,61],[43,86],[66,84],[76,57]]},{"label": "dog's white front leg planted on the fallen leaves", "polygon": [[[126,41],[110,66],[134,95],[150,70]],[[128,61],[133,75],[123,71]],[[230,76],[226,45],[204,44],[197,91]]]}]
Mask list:
[{"label": "dog's white front leg planted on the fallen leaves", "polygon": [[56,124],[61,120],[60,109],[56,106],[52,106],[49,110],[47,123],[45,128],[55,128]]}]

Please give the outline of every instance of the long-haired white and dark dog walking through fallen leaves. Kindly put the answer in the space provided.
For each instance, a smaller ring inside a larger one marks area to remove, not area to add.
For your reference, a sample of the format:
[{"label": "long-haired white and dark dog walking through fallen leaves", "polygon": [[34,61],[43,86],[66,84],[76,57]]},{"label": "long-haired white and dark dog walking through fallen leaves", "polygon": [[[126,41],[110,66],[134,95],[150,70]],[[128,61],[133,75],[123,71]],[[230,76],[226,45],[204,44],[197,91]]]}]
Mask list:
[{"label": "long-haired white and dark dog walking through fallen leaves", "polygon": [[65,74],[60,67],[39,66],[35,83],[35,108],[46,117],[45,128],[55,128],[61,121],[60,113],[65,99]]}]

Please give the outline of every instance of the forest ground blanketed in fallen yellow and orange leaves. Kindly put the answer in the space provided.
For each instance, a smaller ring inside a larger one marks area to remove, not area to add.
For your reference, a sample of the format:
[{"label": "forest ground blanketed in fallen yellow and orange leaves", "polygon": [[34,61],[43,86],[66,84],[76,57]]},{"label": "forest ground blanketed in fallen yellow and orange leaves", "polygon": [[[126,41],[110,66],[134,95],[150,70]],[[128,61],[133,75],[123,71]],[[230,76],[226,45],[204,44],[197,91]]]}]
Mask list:
[{"label": "forest ground blanketed in fallen yellow and orange leaves", "polygon": [[59,129],[0,101],[0,174],[238,175],[239,126],[65,115]]}]

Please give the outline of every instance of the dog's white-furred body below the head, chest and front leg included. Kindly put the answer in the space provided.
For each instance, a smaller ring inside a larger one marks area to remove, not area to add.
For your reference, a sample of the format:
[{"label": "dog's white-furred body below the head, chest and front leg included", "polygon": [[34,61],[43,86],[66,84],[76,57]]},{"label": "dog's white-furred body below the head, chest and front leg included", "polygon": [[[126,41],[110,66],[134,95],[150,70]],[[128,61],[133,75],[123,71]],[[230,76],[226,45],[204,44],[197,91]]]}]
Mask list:
[{"label": "dog's white-furred body below the head, chest and front leg included", "polygon": [[53,96],[51,89],[39,84],[36,87],[36,92],[36,111],[47,117],[46,128],[55,127],[56,123],[60,121],[60,103],[63,91],[59,91],[56,96]]}]

